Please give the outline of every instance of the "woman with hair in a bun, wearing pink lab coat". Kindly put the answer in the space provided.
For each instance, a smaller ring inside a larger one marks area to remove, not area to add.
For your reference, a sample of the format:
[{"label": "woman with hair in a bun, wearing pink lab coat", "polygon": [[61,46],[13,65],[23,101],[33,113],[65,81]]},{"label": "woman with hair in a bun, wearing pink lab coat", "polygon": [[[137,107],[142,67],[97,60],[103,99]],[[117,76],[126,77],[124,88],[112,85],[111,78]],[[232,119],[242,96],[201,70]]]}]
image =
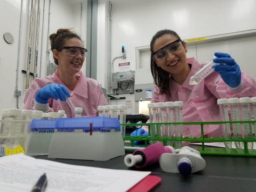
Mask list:
[{"label": "woman with hair in a bun, wearing pink lab coat", "polygon": [[86,78],[80,71],[87,50],[81,38],[70,29],[58,29],[50,35],[51,50],[58,68],[54,74],[35,79],[24,98],[24,109],[42,112],[64,110],[74,117],[66,97],[76,107],[83,108],[82,116],[96,116],[98,106],[108,105],[98,82]]}]

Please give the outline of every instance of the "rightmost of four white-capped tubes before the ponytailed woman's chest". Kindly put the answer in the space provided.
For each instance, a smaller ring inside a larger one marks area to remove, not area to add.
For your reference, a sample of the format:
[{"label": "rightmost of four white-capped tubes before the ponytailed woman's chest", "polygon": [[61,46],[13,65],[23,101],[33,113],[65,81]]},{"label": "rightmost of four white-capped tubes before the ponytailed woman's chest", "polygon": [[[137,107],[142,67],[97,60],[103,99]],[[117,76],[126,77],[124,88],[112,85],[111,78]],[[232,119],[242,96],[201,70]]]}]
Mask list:
[{"label": "rightmost of four white-capped tubes before the ponytailed woman's chest", "polygon": [[[175,101],[174,102],[174,113],[175,113],[175,120],[174,122],[182,122],[182,112],[183,108],[183,101]],[[182,124],[176,124],[174,126],[174,132],[176,138],[182,138]],[[176,148],[182,148],[182,141],[175,141],[174,145]]]}]

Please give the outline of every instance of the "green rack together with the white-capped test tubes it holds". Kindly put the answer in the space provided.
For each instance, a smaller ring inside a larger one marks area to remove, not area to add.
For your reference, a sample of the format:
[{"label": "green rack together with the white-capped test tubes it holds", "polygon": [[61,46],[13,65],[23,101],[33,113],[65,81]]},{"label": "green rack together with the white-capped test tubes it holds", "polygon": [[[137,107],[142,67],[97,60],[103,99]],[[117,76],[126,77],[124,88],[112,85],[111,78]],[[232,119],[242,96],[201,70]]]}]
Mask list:
[{"label": "green rack together with the white-capped test tubes it holds", "polygon": [[[201,154],[256,156],[256,97],[219,99],[217,103],[218,122],[182,122],[182,102],[150,103],[150,123],[139,124],[148,126],[149,136],[124,136],[123,139],[131,141],[132,146],[139,140],[144,141],[145,147],[162,142],[178,149],[183,142],[188,142]],[[223,135],[204,137],[204,127],[209,125],[220,126]],[[199,127],[201,137],[183,137],[183,126]]]}]

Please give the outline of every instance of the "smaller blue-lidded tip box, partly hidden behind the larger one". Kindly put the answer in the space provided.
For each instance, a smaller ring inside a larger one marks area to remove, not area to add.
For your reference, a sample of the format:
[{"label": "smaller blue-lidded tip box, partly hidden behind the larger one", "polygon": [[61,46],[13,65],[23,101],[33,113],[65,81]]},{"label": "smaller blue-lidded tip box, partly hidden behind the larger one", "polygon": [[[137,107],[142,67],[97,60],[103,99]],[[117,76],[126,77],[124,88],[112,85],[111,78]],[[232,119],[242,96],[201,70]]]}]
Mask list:
[{"label": "smaller blue-lidded tip box, partly hidden behind the larger one", "polygon": [[28,156],[47,155],[55,130],[56,120],[33,119],[28,124],[24,151]]}]

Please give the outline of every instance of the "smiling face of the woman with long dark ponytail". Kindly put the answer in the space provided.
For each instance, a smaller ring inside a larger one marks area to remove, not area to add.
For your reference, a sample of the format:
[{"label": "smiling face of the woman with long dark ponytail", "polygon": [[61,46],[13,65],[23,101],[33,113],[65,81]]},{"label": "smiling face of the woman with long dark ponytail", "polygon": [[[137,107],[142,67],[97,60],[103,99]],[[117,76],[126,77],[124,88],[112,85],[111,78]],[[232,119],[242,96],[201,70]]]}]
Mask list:
[{"label": "smiling face of the woman with long dark ponytail", "polygon": [[[153,45],[153,52],[160,50],[164,46],[176,41],[178,38],[172,34],[164,34],[156,39]],[[166,58],[156,61],[158,67],[161,67],[172,76],[182,75],[187,70],[188,64],[186,62],[186,44],[182,42],[181,49],[176,53],[166,52]]]}]

